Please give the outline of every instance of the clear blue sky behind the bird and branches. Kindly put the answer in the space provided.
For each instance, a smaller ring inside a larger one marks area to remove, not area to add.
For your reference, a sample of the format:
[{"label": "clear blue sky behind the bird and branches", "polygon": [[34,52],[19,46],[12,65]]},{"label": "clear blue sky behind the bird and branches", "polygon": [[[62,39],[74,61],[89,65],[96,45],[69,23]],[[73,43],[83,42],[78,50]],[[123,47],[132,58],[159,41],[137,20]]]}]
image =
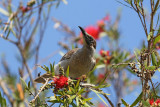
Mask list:
[{"label": "clear blue sky behind the bird and branches", "polygon": [[[146,9],[147,8],[148,7],[146,7]],[[59,49],[60,47],[57,45],[57,42],[62,40],[65,36],[64,33],[53,28],[54,23],[51,19],[52,17],[67,24],[78,34],[80,31],[78,26],[85,27],[88,25],[94,25],[97,20],[103,18],[107,13],[110,14],[111,20],[114,21],[119,9],[122,11],[119,25],[119,30],[121,32],[120,45],[123,49],[133,52],[135,48],[140,47],[142,40],[146,39],[136,12],[121,5],[116,2],[116,0],[68,0],[67,5],[61,3],[58,8],[52,8],[51,17],[40,49],[40,58],[45,58]],[[101,47],[100,42],[98,43],[98,47]],[[15,46],[0,39],[0,55],[5,54],[11,69],[15,73],[17,73],[17,66],[20,66],[15,59],[17,53],[18,50]],[[49,64],[49,62],[53,61],[58,62],[60,58],[61,56],[57,53],[44,64]],[[34,65],[30,65],[30,67],[33,66]],[[126,100],[129,103],[133,101],[128,99],[128,97]]]}]

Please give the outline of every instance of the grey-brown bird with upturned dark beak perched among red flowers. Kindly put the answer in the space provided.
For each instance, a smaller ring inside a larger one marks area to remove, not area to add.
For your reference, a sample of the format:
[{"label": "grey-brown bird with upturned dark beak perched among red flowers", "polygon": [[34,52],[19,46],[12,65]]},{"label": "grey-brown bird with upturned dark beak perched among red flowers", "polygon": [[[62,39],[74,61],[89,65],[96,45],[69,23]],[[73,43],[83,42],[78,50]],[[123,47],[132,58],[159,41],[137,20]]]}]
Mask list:
[{"label": "grey-brown bird with upturned dark beak perched among red flowers", "polygon": [[[74,48],[68,51],[55,65],[55,75],[60,74],[60,67],[67,71],[69,67],[69,77],[76,79],[82,75],[86,75],[89,71],[92,71],[96,60],[94,59],[94,53],[96,50],[96,40],[89,35],[82,27],[78,26],[83,35],[83,46],[82,48]],[[44,83],[46,78],[52,77],[51,74],[43,74],[34,81],[38,83]]]}]

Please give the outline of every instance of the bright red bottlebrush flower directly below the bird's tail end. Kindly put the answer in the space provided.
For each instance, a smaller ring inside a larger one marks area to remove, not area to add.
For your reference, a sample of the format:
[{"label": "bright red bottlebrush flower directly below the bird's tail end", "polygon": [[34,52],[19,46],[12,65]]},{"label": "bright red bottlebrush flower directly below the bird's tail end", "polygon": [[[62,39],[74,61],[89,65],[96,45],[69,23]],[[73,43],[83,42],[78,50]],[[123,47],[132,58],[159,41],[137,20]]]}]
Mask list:
[{"label": "bright red bottlebrush flower directly below the bird's tail end", "polygon": [[60,76],[59,78],[54,78],[54,85],[56,89],[62,89],[65,86],[68,86],[68,78],[65,76]]}]

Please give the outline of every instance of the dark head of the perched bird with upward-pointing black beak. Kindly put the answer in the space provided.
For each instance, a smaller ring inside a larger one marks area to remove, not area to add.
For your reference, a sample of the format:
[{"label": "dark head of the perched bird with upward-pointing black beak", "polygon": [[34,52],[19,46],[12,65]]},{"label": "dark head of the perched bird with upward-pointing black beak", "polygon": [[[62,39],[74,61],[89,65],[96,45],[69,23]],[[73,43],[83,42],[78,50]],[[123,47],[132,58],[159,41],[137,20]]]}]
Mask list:
[{"label": "dark head of the perched bird with upward-pointing black beak", "polygon": [[78,26],[83,35],[83,44],[89,48],[96,49],[96,40],[89,35],[82,27]]}]

